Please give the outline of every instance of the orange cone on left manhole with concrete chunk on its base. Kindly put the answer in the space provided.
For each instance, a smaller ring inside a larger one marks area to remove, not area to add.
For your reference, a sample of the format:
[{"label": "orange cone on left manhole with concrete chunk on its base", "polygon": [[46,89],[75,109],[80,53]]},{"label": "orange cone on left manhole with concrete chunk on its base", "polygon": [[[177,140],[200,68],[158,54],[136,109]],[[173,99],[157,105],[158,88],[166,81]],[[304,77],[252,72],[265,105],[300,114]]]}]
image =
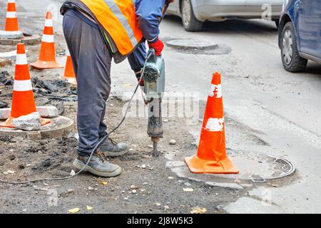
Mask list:
[{"label": "orange cone on left manhole with concrete chunk on its base", "polygon": [[[36,112],[34,103],[34,92],[30,80],[28,62],[24,43],[18,43],[16,51],[16,72],[14,75],[14,93],[12,93],[11,117],[0,127],[14,128],[11,120],[19,118],[21,115],[29,115]],[[41,125],[50,123],[50,120],[42,119]]]}]

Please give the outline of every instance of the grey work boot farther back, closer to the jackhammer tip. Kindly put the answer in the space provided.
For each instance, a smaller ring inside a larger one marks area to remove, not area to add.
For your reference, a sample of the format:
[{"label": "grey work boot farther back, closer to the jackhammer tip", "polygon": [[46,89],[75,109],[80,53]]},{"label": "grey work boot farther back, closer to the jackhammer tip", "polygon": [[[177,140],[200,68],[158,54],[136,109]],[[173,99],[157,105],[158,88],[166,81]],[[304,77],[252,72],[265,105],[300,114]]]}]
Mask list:
[{"label": "grey work boot farther back, closer to the jackhammer tip", "polygon": [[128,145],[124,142],[116,143],[110,138],[106,139],[101,145],[101,151],[105,156],[117,157],[128,152]]}]

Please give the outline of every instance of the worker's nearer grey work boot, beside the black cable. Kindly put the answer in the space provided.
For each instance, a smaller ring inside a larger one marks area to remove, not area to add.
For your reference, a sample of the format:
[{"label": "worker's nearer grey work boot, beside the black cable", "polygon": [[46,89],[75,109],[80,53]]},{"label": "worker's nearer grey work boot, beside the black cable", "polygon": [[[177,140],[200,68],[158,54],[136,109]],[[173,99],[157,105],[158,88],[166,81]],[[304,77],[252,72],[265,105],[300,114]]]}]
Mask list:
[{"label": "worker's nearer grey work boot, beside the black cable", "polygon": [[[77,170],[81,170],[88,162],[90,155],[78,155],[76,160],[73,161],[73,167]],[[121,167],[113,165],[105,160],[105,157],[101,150],[97,150],[93,156],[91,156],[90,162],[83,171],[91,172],[93,175],[100,177],[116,177],[121,174]]]}]

